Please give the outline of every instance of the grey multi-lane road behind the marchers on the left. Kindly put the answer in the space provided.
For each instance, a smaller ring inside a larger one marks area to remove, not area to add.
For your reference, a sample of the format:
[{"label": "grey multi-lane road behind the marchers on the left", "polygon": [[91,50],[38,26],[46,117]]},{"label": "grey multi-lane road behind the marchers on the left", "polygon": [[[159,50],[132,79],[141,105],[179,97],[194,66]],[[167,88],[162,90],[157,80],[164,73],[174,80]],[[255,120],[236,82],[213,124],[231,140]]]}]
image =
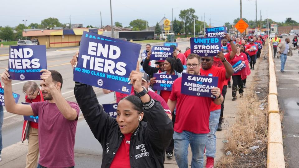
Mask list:
[{"label": "grey multi-lane road behind the marchers on the left", "polygon": [[[184,52],[186,47],[188,47],[189,45],[190,42],[188,41],[178,42],[178,47],[182,49],[182,52]],[[8,53],[8,49],[9,49],[8,47],[0,48],[0,54],[5,54],[6,52]],[[67,48],[59,48],[59,49],[67,49]],[[141,47],[141,51],[143,51],[144,49],[145,46],[143,45]],[[74,98],[74,92],[73,92],[74,89],[73,74],[72,74],[72,69],[69,64],[69,61],[76,50],[64,50],[64,51],[56,51],[56,50],[57,48],[47,49],[48,69],[57,70],[58,72],[61,73],[63,77],[62,94],[65,99],[75,102],[76,100]],[[0,61],[0,73],[4,71],[4,68],[7,67],[7,64],[8,64],[8,60]],[[39,81],[36,82],[39,84]],[[12,81],[13,92],[21,95],[19,99],[19,103],[25,101],[25,95],[22,93],[22,87],[24,83],[25,83],[24,81]],[[112,101],[115,100],[114,94],[112,93],[108,95],[103,95],[102,89],[99,88],[95,88],[95,91],[98,96],[98,100],[100,104],[111,103]],[[9,113],[4,108],[4,121],[2,126],[3,148],[21,141],[22,126],[23,126],[23,116]],[[79,167],[84,167],[83,165],[87,161],[88,161],[88,166],[91,167],[99,167],[99,165],[101,164],[100,156],[102,155],[102,147],[94,138],[87,123],[82,117],[78,120],[78,124],[77,124],[77,131],[75,137],[75,152],[80,153],[83,156],[84,154],[89,154],[90,156],[94,155],[91,158],[81,157],[81,156],[76,157],[75,158],[76,164]]]}]

